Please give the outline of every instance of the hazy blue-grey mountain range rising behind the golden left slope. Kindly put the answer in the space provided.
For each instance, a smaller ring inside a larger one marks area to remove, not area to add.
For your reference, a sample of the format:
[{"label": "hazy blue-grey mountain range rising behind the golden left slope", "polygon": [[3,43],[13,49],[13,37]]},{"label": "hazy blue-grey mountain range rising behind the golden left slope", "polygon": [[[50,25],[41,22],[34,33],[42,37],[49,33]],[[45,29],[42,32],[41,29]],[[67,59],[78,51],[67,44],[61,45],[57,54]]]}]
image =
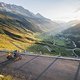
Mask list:
[{"label": "hazy blue-grey mountain range rising behind the golden left slope", "polygon": [[51,21],[50,19],[47,19],[43,17],[40,13],[37,13],[36,15],[30,12],[27,9],[24,9],[21,6],[17,5],[11,5],[1,2],[0,3],[0,11],[4,12],[6,15],[18,17],[19,20],[30,23],[33,25],[33,27],[29,26],[29,29],[31,29],[34,32],[41,32],[41,31],[49,31],[55,28],[59,28],[59,24],[56,22]]}]

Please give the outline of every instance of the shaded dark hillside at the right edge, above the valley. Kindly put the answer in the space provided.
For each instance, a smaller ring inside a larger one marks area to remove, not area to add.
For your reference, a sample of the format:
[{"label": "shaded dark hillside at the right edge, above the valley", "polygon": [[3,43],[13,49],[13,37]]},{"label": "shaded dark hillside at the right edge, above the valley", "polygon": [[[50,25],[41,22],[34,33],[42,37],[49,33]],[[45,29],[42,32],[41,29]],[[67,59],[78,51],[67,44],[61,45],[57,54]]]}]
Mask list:
[{"label": "shaded dark hillside at the right edge, above the valley", "polygon": [[74,42],[77,48],[80,48],[80,22],[64,30],[63,35],[68,38],[69,41]]}]

